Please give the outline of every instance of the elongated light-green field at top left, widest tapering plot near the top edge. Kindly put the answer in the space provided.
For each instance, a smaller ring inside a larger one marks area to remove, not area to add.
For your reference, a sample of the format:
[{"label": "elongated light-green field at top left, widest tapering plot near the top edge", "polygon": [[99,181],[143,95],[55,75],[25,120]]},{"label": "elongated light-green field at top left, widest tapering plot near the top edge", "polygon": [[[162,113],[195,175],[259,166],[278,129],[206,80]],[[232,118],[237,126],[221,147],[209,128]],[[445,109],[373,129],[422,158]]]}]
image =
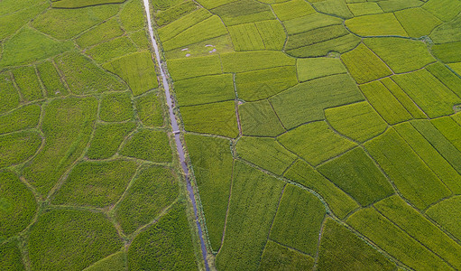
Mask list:
[{"label": "elongated light-green field at top left, widest tapering plot near the top edge", "polygon": [[[67,40],[117,14],[118,5],[97,5],[76,9],[51,8],[37,16],[32,26],[59,40]],[[66,23],[62,23],[66,22]]]}]

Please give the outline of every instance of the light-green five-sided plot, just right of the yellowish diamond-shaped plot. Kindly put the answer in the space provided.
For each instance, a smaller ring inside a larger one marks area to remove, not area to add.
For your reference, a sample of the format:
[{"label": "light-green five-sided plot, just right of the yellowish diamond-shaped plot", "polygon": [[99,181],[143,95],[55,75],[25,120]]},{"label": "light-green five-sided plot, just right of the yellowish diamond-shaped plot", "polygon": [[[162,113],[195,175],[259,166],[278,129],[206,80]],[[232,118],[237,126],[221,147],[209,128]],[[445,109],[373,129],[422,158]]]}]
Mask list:
[{"label": "light-green five-sided plot, just right of the yellowish diamond-shaped plot", "polygon": [[424,42],[387,37],[365,39],[364,43],[395,73],[418,70],[436,61]]}]

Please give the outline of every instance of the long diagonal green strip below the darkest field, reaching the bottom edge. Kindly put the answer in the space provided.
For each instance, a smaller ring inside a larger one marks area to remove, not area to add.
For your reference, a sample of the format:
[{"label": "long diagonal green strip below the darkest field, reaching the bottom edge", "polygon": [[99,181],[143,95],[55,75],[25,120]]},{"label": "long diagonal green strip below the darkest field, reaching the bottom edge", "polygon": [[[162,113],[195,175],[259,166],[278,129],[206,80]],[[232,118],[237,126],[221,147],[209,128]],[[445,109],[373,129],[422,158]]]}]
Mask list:
[{"label": "long diagonal green strip below the darkest field, reaching the bottom edge", "polygon": [[347,224],[370,238],[374,244],[392,257],[398,258],[404,265],[420,270],[450,269],[440,257],[373,208],[355,212],[347,219]]}]

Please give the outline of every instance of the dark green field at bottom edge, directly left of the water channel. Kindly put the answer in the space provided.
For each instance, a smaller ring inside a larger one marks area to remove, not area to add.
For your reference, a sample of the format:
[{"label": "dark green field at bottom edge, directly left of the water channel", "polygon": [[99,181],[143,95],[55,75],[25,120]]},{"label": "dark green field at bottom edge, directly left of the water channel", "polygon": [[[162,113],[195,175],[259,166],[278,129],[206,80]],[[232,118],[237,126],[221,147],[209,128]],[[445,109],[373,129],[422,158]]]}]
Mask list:
[{"label": "dark green field at bottom edge, directly left of the water channel", "polygon": [[184,203],[141,232],[128,248],[130,270],[197,269]]}]

